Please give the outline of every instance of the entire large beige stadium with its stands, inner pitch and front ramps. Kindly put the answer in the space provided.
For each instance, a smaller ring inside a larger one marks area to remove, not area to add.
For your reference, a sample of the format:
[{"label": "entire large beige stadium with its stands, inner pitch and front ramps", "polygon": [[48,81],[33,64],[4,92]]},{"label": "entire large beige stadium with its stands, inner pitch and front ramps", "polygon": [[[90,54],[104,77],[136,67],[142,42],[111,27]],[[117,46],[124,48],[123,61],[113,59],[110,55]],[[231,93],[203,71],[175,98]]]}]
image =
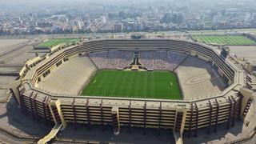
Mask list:
[{"label": "entire large beige stadium with its stands, inner pitch and front ramps", "polygon": [[218,131],[246,115],[250,78],[221,50],[177,39],[100,39],[30,59],[12,84],[23,114],[54,123],[47,142],[73,123]]}]

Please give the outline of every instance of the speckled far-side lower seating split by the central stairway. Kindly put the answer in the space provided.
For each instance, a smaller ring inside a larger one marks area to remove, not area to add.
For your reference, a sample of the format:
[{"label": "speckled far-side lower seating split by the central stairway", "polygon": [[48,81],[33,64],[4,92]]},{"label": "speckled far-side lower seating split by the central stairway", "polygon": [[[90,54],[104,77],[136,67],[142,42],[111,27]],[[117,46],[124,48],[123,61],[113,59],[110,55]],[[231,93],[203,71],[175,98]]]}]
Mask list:
[{"label": "speckled far-side lower seating split by the central stairway", "polygon": [[[89,54],[98,69],[123,69],[133,60],[133,51],[110,50]],[[141,51],[139,62],[146,69],[175,70],[186,58],[186,54],[179,54],[167,50]]]}]

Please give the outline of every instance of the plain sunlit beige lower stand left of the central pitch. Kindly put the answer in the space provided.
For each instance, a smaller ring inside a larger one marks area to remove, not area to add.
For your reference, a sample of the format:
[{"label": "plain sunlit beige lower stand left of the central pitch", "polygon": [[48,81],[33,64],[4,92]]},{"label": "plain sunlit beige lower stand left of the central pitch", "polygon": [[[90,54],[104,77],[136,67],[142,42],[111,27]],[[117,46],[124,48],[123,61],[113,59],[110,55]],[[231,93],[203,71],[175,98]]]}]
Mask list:
[{"label": "plain sunlit beige lower stand left of the central pitch", "polygon": [[95,70],[96,67],[87,56],[74,57],[42,79],[38,88],[54,94],[78,94]]}]

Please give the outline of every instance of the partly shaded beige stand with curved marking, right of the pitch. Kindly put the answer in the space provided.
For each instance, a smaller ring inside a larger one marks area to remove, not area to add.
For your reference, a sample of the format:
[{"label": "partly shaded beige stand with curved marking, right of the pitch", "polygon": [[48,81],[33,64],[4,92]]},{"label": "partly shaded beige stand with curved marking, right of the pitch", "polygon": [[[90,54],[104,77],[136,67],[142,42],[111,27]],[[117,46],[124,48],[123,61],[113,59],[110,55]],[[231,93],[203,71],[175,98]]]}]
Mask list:
[{"label": "partly shaded beige stand with curved marking, right of the pitch", "polygon": [[189,56],[175,72],[187,100],[218,95],[224,90],[221,78],[210,64],[198,58]]}]

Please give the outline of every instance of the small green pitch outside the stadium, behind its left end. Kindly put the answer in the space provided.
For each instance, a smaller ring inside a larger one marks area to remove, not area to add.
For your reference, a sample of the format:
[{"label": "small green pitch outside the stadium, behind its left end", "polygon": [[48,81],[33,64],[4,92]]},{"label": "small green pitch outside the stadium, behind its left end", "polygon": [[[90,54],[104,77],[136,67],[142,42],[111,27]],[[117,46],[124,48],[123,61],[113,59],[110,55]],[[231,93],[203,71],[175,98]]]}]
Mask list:
[{"label": "small green pitch outside the stadium, behind its left end", "polygon": [[73,42],[79,42],[80,39],[79,38],[54,38],[54,39],[50,39],[47,42],[42,42],[38,45],[38,48],[50,48],[53,46],[57,46],[60,43],[66,43],[66,44],[70,44]]}]

